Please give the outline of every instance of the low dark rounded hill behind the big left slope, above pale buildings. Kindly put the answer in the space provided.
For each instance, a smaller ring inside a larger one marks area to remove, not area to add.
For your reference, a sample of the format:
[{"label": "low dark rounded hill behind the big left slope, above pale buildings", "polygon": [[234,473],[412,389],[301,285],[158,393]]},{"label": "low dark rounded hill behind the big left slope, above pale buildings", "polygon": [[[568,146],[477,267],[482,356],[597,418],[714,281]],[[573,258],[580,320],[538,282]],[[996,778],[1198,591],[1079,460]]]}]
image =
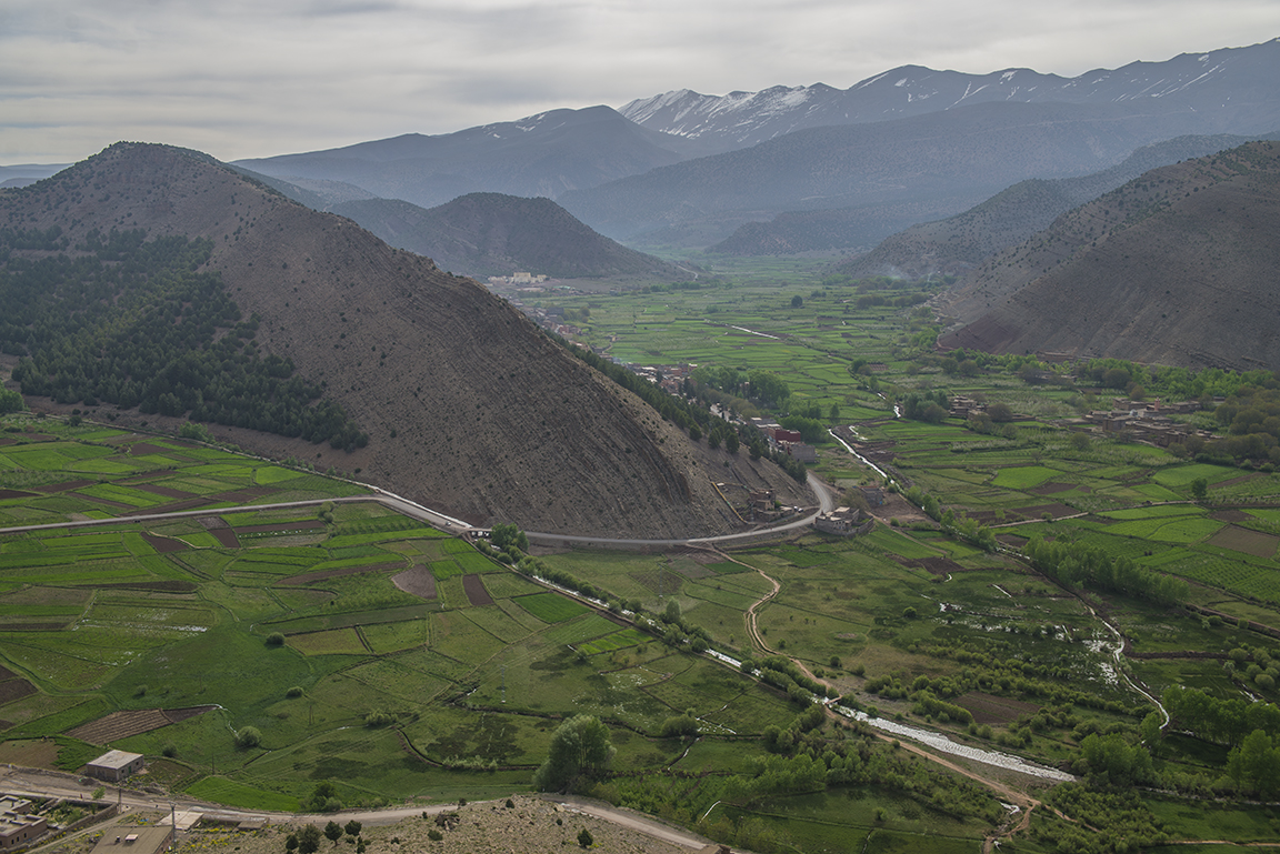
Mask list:
[{"label": "low dark rounded hill behind the big left slope, above pale buildings", "polygon": [[342,202],[330,210],[393,247],[425,254],[440,268],[467,276],[509,276],[526,270],[556,279],[689,277],[664,261],[596,234],[549,198],[468,193],[430,210],[384,198]]}]

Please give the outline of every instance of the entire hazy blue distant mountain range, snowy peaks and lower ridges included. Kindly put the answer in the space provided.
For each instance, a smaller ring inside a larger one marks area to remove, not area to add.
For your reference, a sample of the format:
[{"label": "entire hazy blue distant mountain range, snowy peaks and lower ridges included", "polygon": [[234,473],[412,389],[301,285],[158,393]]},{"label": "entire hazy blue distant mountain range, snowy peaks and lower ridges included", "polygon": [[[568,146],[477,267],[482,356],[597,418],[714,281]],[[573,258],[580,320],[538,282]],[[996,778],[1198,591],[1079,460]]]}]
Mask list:
[{"label": "entire hazy blue distant mountain range, snowy peaks and lower ridges included", "polygon": [[[1098,173],[1175,137],[1280,130],[1277,79],[1280,38],[1074,78],[906,65],[846,89],[680,89],[237,165],[321,210],[502,193],[554,199],[632,248],[867,251],[1018,182]],[[0,182],[32,180],[17,170]]]}]

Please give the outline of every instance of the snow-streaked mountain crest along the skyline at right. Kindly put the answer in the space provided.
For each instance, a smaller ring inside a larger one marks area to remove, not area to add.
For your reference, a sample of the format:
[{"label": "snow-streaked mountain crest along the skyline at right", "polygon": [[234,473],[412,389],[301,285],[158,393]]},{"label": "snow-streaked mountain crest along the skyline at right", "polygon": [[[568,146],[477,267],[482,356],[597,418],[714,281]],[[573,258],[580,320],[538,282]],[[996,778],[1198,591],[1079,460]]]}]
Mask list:
[{"label": "snow-streaked mountain crest along the skyline at right", "polygon": [[847,89],[822,83],[724,96],[677,89],[631,101],[618,111],[650,130],[696,141],[705,152],[744,148],[804,128],[902,119],[991,101],[1147,100],[1161,111],[1231,109],[1239,113],[1238,127],[1253,121],[1251,129],[1265,132],[1274,129],[1277,79],[1280,38],[1272,38],[1073,78],[1024,68],[964,74],[904,65]]}]

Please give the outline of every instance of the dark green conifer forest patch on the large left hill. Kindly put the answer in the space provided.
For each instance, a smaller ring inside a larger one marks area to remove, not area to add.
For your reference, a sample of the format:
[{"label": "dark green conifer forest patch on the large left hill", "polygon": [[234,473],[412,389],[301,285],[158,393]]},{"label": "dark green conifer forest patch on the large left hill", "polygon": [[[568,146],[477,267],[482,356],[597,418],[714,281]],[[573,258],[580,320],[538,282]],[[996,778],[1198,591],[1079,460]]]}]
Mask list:
[{"label": "dark green conifer forest patch on the large left hill", "polygon": [[86,407],[247,427],[352,450],[369,437],[292,361],[262,354],[216,272],[212,243],[91,231],[76,253],[55,233],[0,231],[0,352],[20,357],[22,394]]}]

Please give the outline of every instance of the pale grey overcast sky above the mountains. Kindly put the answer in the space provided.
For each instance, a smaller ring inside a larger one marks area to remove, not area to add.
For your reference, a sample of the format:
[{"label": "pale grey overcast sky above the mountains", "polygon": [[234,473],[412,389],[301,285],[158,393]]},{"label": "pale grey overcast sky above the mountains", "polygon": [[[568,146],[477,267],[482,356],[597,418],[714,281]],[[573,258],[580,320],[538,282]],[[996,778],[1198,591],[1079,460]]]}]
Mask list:
[{"label": "pale grey overcast sky above the mountains", "polygon": [[219,160],[899,65],[1075,77],[1280,36],[1277,0],[0,0],[0,165]]}]

